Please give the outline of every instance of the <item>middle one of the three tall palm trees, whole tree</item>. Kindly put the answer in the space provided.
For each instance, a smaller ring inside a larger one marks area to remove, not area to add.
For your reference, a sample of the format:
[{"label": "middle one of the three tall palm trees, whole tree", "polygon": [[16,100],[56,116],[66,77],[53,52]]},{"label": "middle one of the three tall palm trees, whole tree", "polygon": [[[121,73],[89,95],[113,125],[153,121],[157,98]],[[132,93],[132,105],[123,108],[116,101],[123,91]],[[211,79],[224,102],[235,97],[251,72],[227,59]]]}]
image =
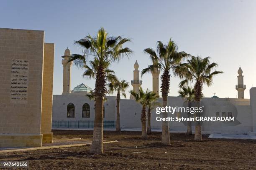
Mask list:
[{"label": "middle one of the three tall palm trees, whole tree", "polygon": [[[144,52],[150,55],[153,65],[148,65],[147,68],[143,69],[141,75],[146,72],[154,72],[156,67],[159,67],[163,71],[161,75],[161,93],[162,93],[162,107],[167,106],[167,96],[169,93],[170,85],[170,71],[174,69],[177,65],[181,63],[184,57],[188,54],[184,51],[177,52],[178,47],[172,39],[169,40],[167,45],[164,45],[161,41],[157,42],[157,54],[151,48],[144,49]],[[162,113],[162,117],[167,118],[168,114],[166,112]],[[170,134],[169,134],[169,124],[167,121],[162,122],[162,141],[165,145],[170,145]]]}]

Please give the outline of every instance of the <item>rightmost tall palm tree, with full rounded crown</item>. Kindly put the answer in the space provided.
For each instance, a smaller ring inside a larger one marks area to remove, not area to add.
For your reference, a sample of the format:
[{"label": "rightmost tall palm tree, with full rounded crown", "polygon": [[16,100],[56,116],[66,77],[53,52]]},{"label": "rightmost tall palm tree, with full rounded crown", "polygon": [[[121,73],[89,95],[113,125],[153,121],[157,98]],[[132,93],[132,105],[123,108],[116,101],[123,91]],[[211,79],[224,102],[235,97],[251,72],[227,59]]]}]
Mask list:
[{"label": "rightmost tall palm tree, with full rounded crown", "polygon": [[[180,87],[187,84],[188,82],[195,81],[194,90],[195,90],[195,102],[196,107],[200,107],[200,99],[202,97],[202,88],[203,85],[207,86],[212,85],[212,78],[215,75],[223,73],[222,71],[213,71],[214,67],[217,67],[218,64],[215,62],[210,63],[210,57],[201,58],[200,56],[194,57],[190,60],[187,60],[188,63],[181,64],[178,66],[174,72],[175,75],[178,75],[181,78],[185,78],[180,82]],[[200,112],[196,113],[196,116],[200,117]],[[195,140],[202,140],[201,134],[201,122],[196,121],[195,127]]]}]

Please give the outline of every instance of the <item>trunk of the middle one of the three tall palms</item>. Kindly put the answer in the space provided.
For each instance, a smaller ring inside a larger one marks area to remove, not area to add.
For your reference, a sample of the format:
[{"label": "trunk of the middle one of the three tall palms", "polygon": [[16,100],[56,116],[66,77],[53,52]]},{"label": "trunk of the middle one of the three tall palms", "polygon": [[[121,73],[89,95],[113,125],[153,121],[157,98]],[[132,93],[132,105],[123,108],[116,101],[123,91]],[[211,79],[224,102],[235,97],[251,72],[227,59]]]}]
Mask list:
[{"label": "trunk of the middle one of the three tall palms", "polygon": [[[170,74],[169,71],[164,71],[163,75],[161,75],[161,92],[162,92],[162,107],[167,106],[167,96],[169,92],[169,86],[170,86]],[[162,117],[167,118],[168,114],[167,112],[162,112]],[[171,145],[170,143],[170,133],[169,133],[169,122],[168,121],[162,121],[162,141],[164,145]]]}]

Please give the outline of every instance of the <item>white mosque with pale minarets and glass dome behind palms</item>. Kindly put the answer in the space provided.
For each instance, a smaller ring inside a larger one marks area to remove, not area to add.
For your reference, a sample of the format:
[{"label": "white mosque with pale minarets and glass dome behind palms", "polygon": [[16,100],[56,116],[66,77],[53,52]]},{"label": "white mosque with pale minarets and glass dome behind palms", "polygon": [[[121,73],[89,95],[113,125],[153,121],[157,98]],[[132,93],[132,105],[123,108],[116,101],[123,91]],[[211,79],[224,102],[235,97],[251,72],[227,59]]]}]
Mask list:
[{"label": "white mosque with pale minarets and glass dome behind palms", "polygon": [[[93,128],[95,116],[95,103],[86,96],[91,87],[83,83],[70,89],[72,62],[67,62],[70,50],[66,49],[62,58],[63,65],[63,92],[62,95],[53,95],[53,128]],[[139,65],[136,61],[133,70],[131,85],[138,91],[142,84],[140,80]],[[153,91],[159,94],[160,70],[152,73]],[[235,117],[235,121],[202,122],[202,133],[253,133],[256,132],[256,87],[250,89],[250,99],[244,98],[246,85],[243,84],[243,71],[238,69],[238,98],[219,98],[217,96],[203,97],[201,106],[204,106],[202,115],[209,117]],[[116,97],[107,96],[104,103],[104,127],[111,127],[116,119]],[[161,98],[159,98],[161,102]],[[168,105],[184,107],[186,103],[181,97],[168,96]],[[151,112],[151,128],[161,130],[162,123],[156,121],[158,115]],[[175,112],[172,117],[187,117],[186,113]],[[120,126],[122,129],[141,128],[141,105],[131,95],[130,99],[120,100]],[[88,123],[87,123],[88,122]],[[110,123],[110,124],[108,124]],[[108,126],[110,125],[110,126]],[[185,132],[186,122],[169,122],[171,132]],[[195,125],[192,124],[195,130]]]}]

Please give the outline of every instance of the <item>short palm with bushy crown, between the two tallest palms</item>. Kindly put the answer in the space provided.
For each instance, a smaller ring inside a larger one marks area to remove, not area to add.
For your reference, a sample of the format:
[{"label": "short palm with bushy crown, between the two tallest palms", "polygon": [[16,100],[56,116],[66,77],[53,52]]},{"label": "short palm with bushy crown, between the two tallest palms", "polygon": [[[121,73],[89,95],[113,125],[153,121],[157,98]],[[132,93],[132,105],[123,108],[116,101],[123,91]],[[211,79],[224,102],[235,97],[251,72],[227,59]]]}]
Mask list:
[{"label": "short palm with bushy crown, between the two tallest palms", "polygon": [[140,103],[142,106],[141,110],[141,139],[148,139],[147,128],[146,128],[146,121],[147,121],[147,114],[146,114],[146,107],[148,103],[153,100],[153,98],[158,98],[158,95],[148,89],[146,92],[142,90],[140,87],[139,92],[135,92],[134,90],[129,91],[131,95],[134,96],[136,102]]}]

